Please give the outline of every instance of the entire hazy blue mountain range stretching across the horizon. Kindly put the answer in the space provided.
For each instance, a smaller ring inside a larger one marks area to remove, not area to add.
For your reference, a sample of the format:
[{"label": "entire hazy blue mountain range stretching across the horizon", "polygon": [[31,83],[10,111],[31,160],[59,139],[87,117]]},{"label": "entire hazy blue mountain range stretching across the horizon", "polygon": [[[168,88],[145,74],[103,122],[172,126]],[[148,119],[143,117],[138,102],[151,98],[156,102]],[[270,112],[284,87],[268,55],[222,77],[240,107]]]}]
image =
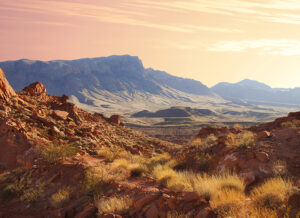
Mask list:
[{"label": "entire hazy blue mountain range stretching across the horizon", "polygon": [[21,59],[0,62],[0,67],[15,90],[40,81],[49,94],[66,94],[80,108],[107,115],[132,117],[150,110],[148,115],[155,117],[151,113],[177,106],[211,110],[222,118],[249,114],[249,110],[250,114],[268,111],[279,116],[300,107],[300,88],[273,89],[253,80],[208,88],[200,81],[145,68],[138,57],[130,55],[54,61]]}]

